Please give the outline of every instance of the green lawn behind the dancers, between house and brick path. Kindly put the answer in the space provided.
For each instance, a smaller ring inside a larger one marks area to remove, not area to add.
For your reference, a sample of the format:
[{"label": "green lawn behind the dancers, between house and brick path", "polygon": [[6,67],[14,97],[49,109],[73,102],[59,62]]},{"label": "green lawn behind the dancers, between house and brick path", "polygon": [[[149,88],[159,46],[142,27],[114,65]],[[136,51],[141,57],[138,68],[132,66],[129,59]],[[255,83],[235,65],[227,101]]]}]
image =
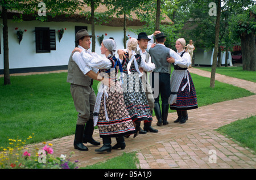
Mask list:
[{"label": "green lawn behind the dancers, between house and brick path", "polygon": [[[75,133],[77,112],[73,105],[67,72],[30,76],[11,76],[10,85],[2,85],[0,78],[0,147],[8,145],[8,138],[35,138],[27,143],[43,142]],[[192,74],[199,106],[226,101],[253,93],[216,82],[209,87],[209,78]],[[93,88],[97,94],[97,81]],[[171,110],[170,110],[171,111]],[[153,114],[154,115],[154,114]]]}]

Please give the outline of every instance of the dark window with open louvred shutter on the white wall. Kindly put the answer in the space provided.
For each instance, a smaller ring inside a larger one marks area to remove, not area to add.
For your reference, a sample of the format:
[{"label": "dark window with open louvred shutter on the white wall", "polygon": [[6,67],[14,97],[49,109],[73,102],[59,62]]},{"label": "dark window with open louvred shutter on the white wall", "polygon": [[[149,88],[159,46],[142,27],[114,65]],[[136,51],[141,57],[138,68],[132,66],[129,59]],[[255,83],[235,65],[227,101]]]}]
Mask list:
[{"label": "dark window with open louvred shutter on the white wall", "polygon": [[50,53],[56,50],[55,30],[49,28],[35,28],[36,53]]}]

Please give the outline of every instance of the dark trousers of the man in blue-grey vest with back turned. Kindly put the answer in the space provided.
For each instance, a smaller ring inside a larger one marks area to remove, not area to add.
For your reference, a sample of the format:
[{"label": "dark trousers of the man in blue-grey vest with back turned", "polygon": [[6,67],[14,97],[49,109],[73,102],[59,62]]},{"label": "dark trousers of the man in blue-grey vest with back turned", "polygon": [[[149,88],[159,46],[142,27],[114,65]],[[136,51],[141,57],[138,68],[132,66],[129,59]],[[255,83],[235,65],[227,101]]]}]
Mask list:
[{"label": "dark trousers of the man in blue-grey vest with back turned", "polygon": [[[171,95],[171,75],[163,72],[152,72],[151,76],[151,87],[155,103],[159,102],[159,95],[161,96],[162,104],[168,104],[169,96]],[[157,78],[158,77],[158,78]]]}]

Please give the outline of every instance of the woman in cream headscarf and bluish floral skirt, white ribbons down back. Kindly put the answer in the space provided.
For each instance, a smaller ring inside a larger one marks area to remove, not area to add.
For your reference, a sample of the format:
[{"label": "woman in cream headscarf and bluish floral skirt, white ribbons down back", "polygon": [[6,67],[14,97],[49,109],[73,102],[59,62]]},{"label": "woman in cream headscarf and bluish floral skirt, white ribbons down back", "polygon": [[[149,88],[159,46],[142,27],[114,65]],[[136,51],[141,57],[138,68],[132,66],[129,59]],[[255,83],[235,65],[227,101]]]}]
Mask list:
[{"label": "woman in cream headscarf and bluish floral skirt, white ribbons down back", "polygon": [[[146,89],[142,85],[142,72],[152,71],[155,68],[154,63],[146,63],[142,61],[141,55],[135,53],[138,40],[130,38],[127,44],[127,54],[122,62],[123,73],[123,97],[125,105],[129,111],[131,119],[135,124],[136,132],[134,138],[141,130],[141,121],[152,121],[152,113],[148,105],[146,97]],[[142,72],[141,72],[142,71]]]}]

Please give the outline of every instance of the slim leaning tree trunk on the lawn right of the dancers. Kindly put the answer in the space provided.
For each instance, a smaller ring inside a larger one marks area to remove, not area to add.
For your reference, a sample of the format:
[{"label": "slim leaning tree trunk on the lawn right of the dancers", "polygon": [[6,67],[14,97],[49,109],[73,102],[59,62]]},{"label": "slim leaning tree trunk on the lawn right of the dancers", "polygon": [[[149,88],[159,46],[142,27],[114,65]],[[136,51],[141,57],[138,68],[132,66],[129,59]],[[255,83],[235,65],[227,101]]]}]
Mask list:
[{"label": "slim leaning tree trunk on the lawn right of the dancers", "polygon": [[210,87],[214,88],[215,86],[215,74],[217,66],[217,56],[218,56],[218,38],[220,36],[220,16],[221,16],[221,0],[218,0],[217,5],[217,17],[215,25],[215,44],[214,44],[214,53],[213,53],[213,62],[212,62],[212,72],[210,73]]}]

